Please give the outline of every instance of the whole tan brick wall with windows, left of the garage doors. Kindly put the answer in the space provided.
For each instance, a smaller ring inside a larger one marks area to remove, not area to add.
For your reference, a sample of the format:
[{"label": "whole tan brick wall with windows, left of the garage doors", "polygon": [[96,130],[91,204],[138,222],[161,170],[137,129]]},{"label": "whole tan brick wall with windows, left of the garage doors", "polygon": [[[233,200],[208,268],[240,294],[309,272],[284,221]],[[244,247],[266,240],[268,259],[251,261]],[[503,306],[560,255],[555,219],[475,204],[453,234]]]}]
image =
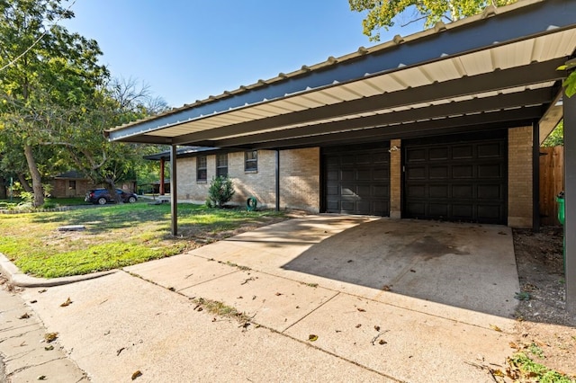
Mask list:
[{"label": "whole tan brick wall with windows, left of the garage doors", "polygon": [[[216,174],[216,156],[207,156],[208,182],[196,182],[196,159],[180,158],[177,166],[178,200],[203,203],[208,197],[211,178]],[[274,209],[276,158],[273,150],[258,150],[257,172],[244,171],[244,152],[228,154],[228,175],[236,193],[230,201],[245,206],[255,197],[258,206]],[[320,210],[320,148],[280,152],[282,209]]]}]

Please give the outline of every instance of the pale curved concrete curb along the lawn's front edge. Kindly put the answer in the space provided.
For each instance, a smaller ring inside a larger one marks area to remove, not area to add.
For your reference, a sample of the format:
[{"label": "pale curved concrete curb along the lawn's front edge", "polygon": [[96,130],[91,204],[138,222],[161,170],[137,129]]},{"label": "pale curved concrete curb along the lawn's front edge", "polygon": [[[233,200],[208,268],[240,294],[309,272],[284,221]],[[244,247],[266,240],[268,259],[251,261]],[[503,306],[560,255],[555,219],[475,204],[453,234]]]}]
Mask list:
[{"label": "pale curved concrete curb along the lawn's front edge", "polygon": [[36,278],[30,275],[24,274],[10,262],[8,258],[2,253],[0,253],[0,272],[12,283],[14,286],[24,287],[24,288],[38,288],[38,287],[53,287],[66,285],[68,283],[74,283],[78,281],[94,280],[94,278],[100,278],[105,275],[113,274],[118,272],[118,270],[110,270],[108,272],[93,272],[85,275],[74,275],[72,277],[61,277],[61,278]]}]

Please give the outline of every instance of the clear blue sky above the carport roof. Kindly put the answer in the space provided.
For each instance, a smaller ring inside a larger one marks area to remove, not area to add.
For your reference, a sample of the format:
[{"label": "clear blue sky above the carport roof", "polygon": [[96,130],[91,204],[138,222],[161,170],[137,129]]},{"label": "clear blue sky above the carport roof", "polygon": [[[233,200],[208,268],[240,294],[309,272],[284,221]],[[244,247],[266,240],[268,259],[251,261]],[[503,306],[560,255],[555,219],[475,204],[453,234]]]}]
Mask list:
[{"label": "clear blue sky above the carport roof", "polygon": [[[374,45],[347,0],[76,0],[71,9],[64,25],[98,41],[112,76],[145,82],[170,106]],[[382,41],[421,28],[394,27]]]}]

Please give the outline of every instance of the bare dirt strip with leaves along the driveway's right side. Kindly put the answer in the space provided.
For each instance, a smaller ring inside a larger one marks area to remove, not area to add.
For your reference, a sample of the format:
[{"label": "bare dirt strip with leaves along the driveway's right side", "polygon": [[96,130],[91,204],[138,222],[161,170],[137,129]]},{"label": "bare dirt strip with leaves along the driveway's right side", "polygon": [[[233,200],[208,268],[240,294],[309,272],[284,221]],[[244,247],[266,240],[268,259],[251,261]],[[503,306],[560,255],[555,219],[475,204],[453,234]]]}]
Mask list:
[{"label": "bare dirt strip with leaves along the driveway's right side", "polygon": [[576,317],[565,310],[563,228],[514,230],[520,289],[518,350],[546,367],[576,376]]}]

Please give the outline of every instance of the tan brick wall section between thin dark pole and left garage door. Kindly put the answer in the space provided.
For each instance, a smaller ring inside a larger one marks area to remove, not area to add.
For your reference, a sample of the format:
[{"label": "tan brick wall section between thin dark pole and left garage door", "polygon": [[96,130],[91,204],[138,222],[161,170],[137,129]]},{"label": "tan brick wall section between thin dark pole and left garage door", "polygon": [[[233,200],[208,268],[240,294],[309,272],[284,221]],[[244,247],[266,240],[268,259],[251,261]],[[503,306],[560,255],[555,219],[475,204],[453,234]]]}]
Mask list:
[{"label": "tan brick wall section between thin dark pole and left garage door", "polygon": [[320,147],[280,152],[280,207],[320,212]]}]

